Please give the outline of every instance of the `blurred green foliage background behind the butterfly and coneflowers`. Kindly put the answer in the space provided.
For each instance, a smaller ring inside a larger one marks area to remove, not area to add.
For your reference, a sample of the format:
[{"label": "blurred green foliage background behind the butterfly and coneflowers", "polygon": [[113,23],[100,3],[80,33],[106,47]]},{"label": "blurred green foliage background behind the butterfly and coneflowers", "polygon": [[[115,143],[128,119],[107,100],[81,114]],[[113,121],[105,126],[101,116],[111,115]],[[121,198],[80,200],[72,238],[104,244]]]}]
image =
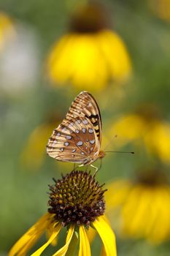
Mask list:
[{"label": "blurred green foliage background behind the butterfly and coneflowers", "polygon": [[[104,92],[96,89],[93,93],[101,108],[104,136],[107,137],[109,126],[117,118],[134,112],[146,102],[156,105],[164,120],[170,121],[170,23],[158,18],[148,1],[104,2],[111,14],[112,28],[124,40],[133,66],[133,76],[122,88],[106,86]],[[47,184],[52,183],[54,176],[58,178],[60,173],[72,169],[71,165],[56,164],[46,155],[39,167],[31,162],[26,165],[22,162],[22,154],[31,132],[48,123],[54,115],[57,126],[78,92],[69,84],[63,87],[51,86],[45,75],[47,53],[55,40],[66,33],[69,15],[78,4],[80,1],[76,0],[0,1],[1,11],[6,12],[26,33],[23,47],[27,45],[26,42],[31,44],[35,53],[32,55],[34,64],[36,61],[36,72],[32,80],[25,80],[19,88],[12,86],[14,80],[9,72],[7,88],[0,85],[1,256],[7,255],[12,244],[47,211]],[[26,69],[30,71],[32,67],[28,66]],[[17,72],[22,75],[22,67]],[[0,83],[5,84],[5,80],[1,81],[0,78]],[[115,140],[119,140],[119,136],[121,135],[118,134]],[[112,150],[117,143],[115,140],[110,146]],[[46,145],[47,141],[43,140],[43,143]],[[133,151],[134,145],[130,143],[121,150]],[[34,160],[33,156],[33,163]],[[158,159],[148,157],[144,148],[140,148],[134,157],[108,154],[98,173],[98,180],[107,183],[116,178],[131,178],[146,161],[148,165],[152,165]],[[169,176],[169,165],[161,165]],[[170,246],[169,241],[154,246],[144,240],[133,241],[117,237],[117,251],[120,256],[166,256],[170,253]],[[98,240],[93,244],[93,253],[99,253]]]}]

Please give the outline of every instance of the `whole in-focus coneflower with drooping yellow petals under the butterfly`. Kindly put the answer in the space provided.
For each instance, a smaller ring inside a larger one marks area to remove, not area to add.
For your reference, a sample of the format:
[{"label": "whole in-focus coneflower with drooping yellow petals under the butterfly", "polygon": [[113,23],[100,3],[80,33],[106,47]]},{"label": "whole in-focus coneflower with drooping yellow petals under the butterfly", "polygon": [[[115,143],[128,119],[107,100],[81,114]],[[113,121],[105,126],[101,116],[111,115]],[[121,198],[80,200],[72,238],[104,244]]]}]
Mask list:
[{"label": "whole in-focus coneflower with drooping yellow petals under the butterfly", "polygon": [[[50,233],[47,242],[32,254],[41,255],[63,228],[67,228],[66,243],[53,256],[66,255],[69,249],[69,255],[75,255],[77,241],[78,255],[91,255],[87,236],[89,227],[95,229],[101,237],[106,255],[116,256],[115,235],[104,216],[106,190],[103,186],[90,173],[82,171],[72,171],[61,179],[53,180],[55,184],[50,186],[48,213],[19,239],[10,250],[9,256],[26,255],[47,230]],[[71,243],[72,249],[69,247]]]}]

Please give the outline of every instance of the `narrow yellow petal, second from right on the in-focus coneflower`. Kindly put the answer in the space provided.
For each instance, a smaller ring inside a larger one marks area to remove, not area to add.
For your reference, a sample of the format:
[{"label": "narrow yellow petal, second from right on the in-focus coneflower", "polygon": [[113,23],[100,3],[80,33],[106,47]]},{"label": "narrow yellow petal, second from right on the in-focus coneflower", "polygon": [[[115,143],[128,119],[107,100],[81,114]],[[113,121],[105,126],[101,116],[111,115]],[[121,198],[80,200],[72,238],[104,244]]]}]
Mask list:
[{"label": "narrow yellow petal, second from right on the in-focus coneflower", "polygon": [[79,229],[80,233],[80,249],[79,249],[79,256],[90,256],[90,244],[88,241],[88,236],[85,231],[84,226],[80,226]]}]

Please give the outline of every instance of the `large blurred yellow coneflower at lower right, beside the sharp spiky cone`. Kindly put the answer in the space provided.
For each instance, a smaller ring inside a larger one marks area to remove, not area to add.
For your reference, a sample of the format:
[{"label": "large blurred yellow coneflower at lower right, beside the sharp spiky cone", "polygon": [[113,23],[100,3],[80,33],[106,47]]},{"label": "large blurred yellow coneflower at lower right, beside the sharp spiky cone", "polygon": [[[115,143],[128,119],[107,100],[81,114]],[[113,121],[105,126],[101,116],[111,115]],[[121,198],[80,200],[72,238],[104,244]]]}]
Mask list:
[{"label": "large blurred yellow coneflower at lower right, beside the sharp spiky cone", "polygon": [[170,238],[170,186],[160,171],[147,170],[136,182],[112,182],[105,199],[120,236],[153,244]]}]

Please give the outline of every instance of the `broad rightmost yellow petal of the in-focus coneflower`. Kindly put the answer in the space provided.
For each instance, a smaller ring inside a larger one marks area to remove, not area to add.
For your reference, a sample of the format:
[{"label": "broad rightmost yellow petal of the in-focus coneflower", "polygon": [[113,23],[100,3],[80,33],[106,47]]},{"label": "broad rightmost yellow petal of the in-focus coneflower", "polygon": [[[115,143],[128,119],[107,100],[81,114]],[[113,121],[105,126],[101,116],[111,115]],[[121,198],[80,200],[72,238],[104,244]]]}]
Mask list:
[{"label": "broad rightmost yellow petal of the in-focus coneflower", "polygon": [[101,240],[104,243],[104,249],[107,256],[116,256],[116,243],[115,243],[115,234],[112,231],[112,228],[109,226],[106,221],[106,217],[98,217],[93,222],[93,227],[96,228]]}]

